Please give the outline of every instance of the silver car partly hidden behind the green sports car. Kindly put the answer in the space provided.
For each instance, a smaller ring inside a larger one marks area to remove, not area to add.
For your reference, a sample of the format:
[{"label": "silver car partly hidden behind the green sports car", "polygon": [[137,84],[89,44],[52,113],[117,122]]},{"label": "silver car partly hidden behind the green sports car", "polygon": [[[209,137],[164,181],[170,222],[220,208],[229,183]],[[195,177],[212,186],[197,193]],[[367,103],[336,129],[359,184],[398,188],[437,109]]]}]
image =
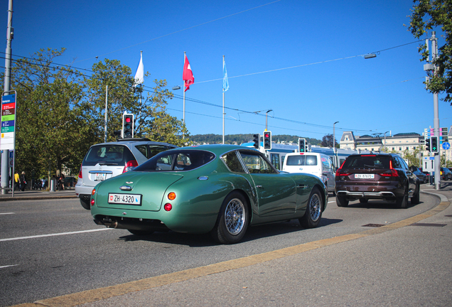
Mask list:
[{"label": "silver car partly hidden behind the green sports car", "polygon": [[90,210],[91,192],[97,183],[130,171],[161,151],[177,147],[149,139],[119,139],[93,145],[80,166],[75,195],[82,207]]}]

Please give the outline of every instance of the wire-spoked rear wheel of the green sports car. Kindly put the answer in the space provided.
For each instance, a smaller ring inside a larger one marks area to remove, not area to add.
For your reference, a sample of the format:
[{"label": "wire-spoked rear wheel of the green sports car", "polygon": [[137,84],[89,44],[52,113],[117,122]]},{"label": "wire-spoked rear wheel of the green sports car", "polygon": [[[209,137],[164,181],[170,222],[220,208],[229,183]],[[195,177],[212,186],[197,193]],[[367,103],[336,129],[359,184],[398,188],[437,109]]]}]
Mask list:
[{"label": "wire-spoked rear wheel of the green sports car", "polygon": [[234,244],[242,239],[247,231],[248,224],[247,200],[242,193],[232,191],[223,200],[217,222],[210,234],[215,241],[221,244]]}]

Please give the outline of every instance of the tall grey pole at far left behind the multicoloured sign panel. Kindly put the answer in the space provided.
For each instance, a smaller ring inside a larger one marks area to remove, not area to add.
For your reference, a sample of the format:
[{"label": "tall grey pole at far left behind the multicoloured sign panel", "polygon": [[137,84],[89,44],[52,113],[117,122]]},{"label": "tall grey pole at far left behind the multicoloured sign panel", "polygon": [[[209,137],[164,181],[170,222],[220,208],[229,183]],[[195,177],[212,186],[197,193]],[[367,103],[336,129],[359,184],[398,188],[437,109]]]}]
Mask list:
[{"label": "tall grey pole at far left behind the multicoloured sign panel", "polygon": [[[9,92],[11,82],[11,41],[13,40],[13,0],[9,0],[8,4],[8,30],[6,31],[6,53],[5,53],[5,78],[4,92]],[[16,154],[16,153],[14,153]],[[14,174],[13,188],[14,188]],[[8,194],[9,179],[9,150],[1,151],[1,194]]]}]

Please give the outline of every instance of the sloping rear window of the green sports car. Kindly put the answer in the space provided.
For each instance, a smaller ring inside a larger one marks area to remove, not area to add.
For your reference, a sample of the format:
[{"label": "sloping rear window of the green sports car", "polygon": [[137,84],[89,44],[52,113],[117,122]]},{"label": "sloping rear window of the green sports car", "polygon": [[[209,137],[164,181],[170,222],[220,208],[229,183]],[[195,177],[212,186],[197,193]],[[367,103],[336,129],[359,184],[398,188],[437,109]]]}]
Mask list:
[{"label": "sloping rear window of the green sports car", "polygon": [[190,171],[203,166],[215,158],[209,151],[163,151],[150,158],[133,171]]}]

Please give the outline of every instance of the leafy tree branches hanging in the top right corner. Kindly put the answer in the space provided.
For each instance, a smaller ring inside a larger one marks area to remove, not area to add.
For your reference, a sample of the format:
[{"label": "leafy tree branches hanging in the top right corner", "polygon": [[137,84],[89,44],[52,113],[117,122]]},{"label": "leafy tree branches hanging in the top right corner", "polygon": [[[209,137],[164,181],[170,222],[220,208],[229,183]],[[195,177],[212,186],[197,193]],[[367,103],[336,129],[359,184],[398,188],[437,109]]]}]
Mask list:
[{"label": "leafy tree branches hanging in the top right corner", "polygon": [[[437,69],[426,87],[430,92],[445,92],[446,97],[443,100],[451,102],[452,105],[452,1],[415,0],[411,11],[409,30],[414,37],[421,38],[429,35],[429,31],[441,30],[445,43],[438,46],[438,57],[433,60]],[[426,45],[419,46],[419,53],[421,61],[428,59],[429,51]]]}]

